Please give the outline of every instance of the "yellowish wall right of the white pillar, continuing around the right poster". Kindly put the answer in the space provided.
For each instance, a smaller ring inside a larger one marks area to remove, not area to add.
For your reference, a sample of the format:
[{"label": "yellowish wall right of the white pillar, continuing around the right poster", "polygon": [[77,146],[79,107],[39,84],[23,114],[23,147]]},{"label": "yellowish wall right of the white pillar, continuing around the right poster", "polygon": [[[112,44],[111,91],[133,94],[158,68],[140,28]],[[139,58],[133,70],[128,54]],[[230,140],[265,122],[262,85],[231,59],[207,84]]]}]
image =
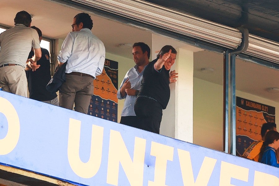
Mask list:
[{"label": "yellowish wall right of the white pillar, continuing around the right poster", "polygon": [[[275,107],[279,123],[279,103],[241,91],[236,96]],[[194,78],[193,97],[193,143],[222,151],[223,86]]]}]

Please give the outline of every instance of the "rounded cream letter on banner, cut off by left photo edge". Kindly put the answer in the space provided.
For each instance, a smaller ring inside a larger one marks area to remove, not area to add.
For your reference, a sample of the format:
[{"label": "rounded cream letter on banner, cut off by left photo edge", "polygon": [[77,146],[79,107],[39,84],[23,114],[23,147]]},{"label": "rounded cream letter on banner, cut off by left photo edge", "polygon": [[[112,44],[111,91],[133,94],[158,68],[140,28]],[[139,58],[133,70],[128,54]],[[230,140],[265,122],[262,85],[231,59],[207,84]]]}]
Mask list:
[{"label": "rounded cream letter on banner, cut off by left photo edge", "polygon": [[7,135],[0,139],[0,155],[10,153],[16,146],[20,136],[20,121],[14,106],[5,98],[0,97],[0,113],[8,121]]}]

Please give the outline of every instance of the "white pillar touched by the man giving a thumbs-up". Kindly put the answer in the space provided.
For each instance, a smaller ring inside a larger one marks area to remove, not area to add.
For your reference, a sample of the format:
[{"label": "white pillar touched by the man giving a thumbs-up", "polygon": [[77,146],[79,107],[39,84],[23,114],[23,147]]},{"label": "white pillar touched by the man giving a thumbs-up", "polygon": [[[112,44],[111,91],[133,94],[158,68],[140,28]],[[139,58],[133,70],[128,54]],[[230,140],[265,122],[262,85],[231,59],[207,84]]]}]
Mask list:
[{"label": "white pillar touched by the man giving a thumbs-up", "polygon": [[177,50],[175,71],[175,139],[193,143],[193,51]]}]

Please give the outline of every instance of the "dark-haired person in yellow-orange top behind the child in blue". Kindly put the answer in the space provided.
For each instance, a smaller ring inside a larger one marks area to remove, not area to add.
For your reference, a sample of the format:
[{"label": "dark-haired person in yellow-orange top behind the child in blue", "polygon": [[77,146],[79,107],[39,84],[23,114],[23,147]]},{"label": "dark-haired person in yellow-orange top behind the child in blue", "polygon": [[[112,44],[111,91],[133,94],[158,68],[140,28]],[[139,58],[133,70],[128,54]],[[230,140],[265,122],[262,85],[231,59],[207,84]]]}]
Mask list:
[{"label": "dark-haired person in yellow-orange top behind the child in blue", "polygon": [[248,148],[246,148],[242,157],[258,162],[260,149],[263,145],[265,135],[268,131],[277,131],[276,124],[271,122],[264,123],[261,128],[262,139],[259,141],[254,141]]}]

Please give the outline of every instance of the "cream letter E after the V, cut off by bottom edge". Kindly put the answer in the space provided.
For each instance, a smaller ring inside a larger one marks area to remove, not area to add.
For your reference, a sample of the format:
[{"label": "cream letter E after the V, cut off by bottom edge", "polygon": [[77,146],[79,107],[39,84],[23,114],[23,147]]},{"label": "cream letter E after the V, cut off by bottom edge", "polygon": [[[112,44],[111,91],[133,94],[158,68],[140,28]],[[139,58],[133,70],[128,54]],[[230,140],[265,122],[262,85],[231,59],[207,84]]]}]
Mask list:
[{"label": "cream letter E after the V, cut off by bottom edge", "polygon": [[248,182],[249,169],[228,162],[221,162],[219,186],[234,186],[231,178]]}]

